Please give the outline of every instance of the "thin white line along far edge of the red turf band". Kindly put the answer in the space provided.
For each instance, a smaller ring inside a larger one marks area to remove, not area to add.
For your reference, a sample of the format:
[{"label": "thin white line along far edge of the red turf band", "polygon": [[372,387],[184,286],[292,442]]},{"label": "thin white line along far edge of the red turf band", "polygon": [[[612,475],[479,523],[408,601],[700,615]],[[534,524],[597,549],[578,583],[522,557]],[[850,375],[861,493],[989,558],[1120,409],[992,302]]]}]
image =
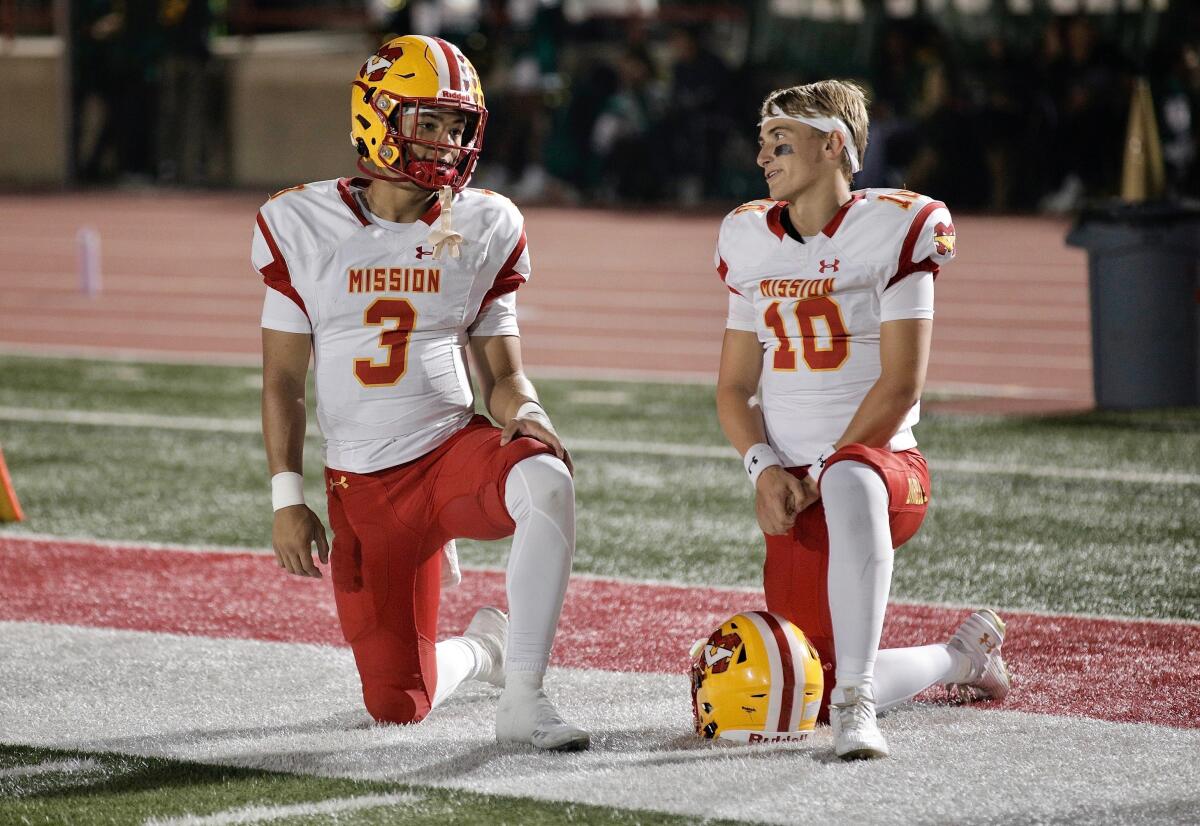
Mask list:
[{"label": "thin white line along far edge of the red turf band", "polygon": [[[92,539],[91,537],[66,537],[66,535],[53,535],[48,533],[14,533],[6,532],[0,527],[0,544],[5,539],[12,539],[16,541],[31,541],[41,543],[47,545],[56,545],[60,543],[82,543],[86,545],[98,545],[101,547],[110,547],[115,550],[133,550],[133,551],[162,551],[168,553],[229,553],[229,555],[244,555],[252,553],[256,556],[271,556],[274,551],[270,547],[229,547],[226,545],[184,545],[176,543],[145,543],[142,540],[120,540],[120,539]],[[462,565],[463,573],[478,571],[487,574],[504,574],[506,568],[504,565]],[[686,582],[683,580],[658,580],[636,576],[612,576],[612,575],[600,575],[600,574],[587,574],[580,571],[571,573],[572,580],[582,580],[586,582],[613,582],[617,585],[630,585],[630,586],[660,586],[664,588],[697,588],[706,591],[718,591],[721,593],[727,593],[732,595],[748,595],[748,597],[762,597],[762,588],[756,585],[709,585],[701,582]],[[974,603],[946,603],[946,601],[929,601],[922,599],[901,599],[896,597],[890,597],[888,599],[889,604],[895,605],[917,605],[925,607],[941,607],[950,611],[974,611],[979,607]],[[1128,615],[1117,613],[1090,613],[1090,612],[1063,612],[1063,611],[1050,611],[1046,609],[1038,607],[1025,607],[1025,606],[1006,606],[1006,605],[991,605],[990,607],[998,611],[1002,616],[1008,612],[1027,613],[1034,617],[1070,617],[1074,620],[1100,620],[1104,622],[1139,622],[1139,623],[1153,623],[1162,626],[1198,626],[1200,622],[1195,620],[1178,620],[1178,618],[1158,618],[1158,617],[1134,617]]]}]

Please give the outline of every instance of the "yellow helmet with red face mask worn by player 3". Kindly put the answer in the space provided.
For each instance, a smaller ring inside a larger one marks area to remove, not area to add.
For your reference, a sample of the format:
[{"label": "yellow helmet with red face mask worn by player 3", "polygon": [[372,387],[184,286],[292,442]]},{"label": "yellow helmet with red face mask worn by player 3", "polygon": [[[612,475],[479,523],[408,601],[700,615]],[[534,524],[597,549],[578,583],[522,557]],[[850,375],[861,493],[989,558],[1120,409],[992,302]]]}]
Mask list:
[{"label": "yellow helmet with red face mask worn by player 3", "polygon": [[[431,128],[422,115],[437,112],[461,114],[461,133]],[[362,64],[350,86],[350,142],[359,169],[372,178],[457,192],[475,169],[486,122],[475,67],[440,37],[388,41]],[[419,146],[426,149],[414,152]]]}]

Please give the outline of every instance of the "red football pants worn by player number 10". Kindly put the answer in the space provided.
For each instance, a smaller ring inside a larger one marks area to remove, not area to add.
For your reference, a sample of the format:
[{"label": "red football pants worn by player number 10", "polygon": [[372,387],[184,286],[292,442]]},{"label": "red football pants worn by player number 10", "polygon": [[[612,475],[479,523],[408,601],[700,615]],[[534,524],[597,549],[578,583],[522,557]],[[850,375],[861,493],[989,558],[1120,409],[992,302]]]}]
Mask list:
[{"label": "red football pants worn by player number 10", "polygon": [[[826,467],[847,459],[872,467],[887,485],[892,547],[900,547],[917,533],[929,508],[925,457],[916,449],[893,453],[886,448],[850,444],[839,449]],[[808,475],[808,466],[786,469],[797,479]],[[836,669],[833,622],[829,618],[829,533],[824,505],[818,501],[802,510],[791,533],[766,538],[767,562],[762,577],[767,610],[787,617],[804,632],[821,656],[824,698],[818,719],[824,722],[829,714],[829,693]]]}]

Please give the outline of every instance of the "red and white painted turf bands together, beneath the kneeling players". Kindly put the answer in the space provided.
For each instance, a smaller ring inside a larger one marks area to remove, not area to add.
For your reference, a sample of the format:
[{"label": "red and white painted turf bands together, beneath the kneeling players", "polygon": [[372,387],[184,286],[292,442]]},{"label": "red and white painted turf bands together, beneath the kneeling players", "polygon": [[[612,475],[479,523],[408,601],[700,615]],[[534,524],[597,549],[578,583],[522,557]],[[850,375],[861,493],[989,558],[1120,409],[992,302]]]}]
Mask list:
[{"label": "red and white painted turf bands together, beneath the kneeling players", "polygon": [[[0,537],[0,587],[8,743],[761,822],[812,806],[839,822],[1186,822],[1200,802],[1200,623],[1006,612],[1008,702],[931,693],[887,717],[892,759],[845,765],[827,729],[800,747],[691,734],[684,652],[758,606],[744,589],[572,582],[547,680],[594,746],[547,755],[494,743],[498,692],[479,683],[419,726],[372,725],[328,580],[262,555]],[[502,600],[500,573],[467,571],[443,633]],[[887,642],[944,639],[961,616],[893,605]]]}]

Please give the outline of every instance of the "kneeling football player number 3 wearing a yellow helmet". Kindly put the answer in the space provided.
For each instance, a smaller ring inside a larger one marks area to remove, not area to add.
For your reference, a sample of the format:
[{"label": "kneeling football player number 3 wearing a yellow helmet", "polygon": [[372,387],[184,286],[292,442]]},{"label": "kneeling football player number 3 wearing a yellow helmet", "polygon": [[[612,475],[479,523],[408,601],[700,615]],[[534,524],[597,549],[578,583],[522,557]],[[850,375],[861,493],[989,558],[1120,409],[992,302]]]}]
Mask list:
[{"label": "kneeling football player number 3 wearing a yellow helmet", "polygon": [[[521,364],[523,219],[508,198],[467,186],[486,124],[479,76],[455,46],[397,37],[350,86],[366,178],[292,187],[259,211],[272,544],[292,574],[322,576],[313,544],[330,563],[377,720],[416,723],[475,678],[504,688],[499,741],[574,750],[588,732],[542,688],[575,550],[571,460]],[[475,413],[468,347],[502,427]],[[310,353],[331,562],[304,501]],[[480,609],[462,636],[438,642],[455,538],[510,534],[508,616]]]}]

